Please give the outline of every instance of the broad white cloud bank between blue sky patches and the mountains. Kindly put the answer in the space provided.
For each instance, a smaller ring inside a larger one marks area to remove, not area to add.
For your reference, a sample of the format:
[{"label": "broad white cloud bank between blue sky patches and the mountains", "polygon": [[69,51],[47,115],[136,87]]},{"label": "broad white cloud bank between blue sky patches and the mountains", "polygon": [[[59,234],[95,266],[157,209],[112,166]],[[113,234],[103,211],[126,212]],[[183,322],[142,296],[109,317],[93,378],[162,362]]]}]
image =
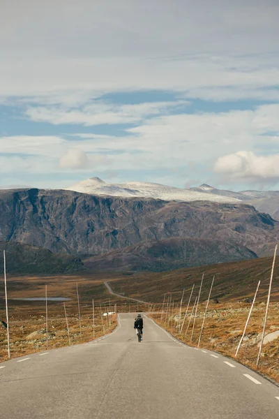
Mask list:
[{"label": "broad white cloud bank between blue sky patches and the mountains", "polygon": [[[188,173],[193,179],[209,179],[209,171],[218,158],[234,155],[241,149],[249,150],[256,156],[262,155],[263,149],[264,153],[271,149],[277,155],[277,115],[279,105],[264,105],[255,110],[153,115],[151,119],[129,129],[128,135],[124,136],[77,133],[70,140],[68,137],[55,136],[0,138],[0,149],[6,156],[5,162],[0,162],[1,171],[24,170],[50,174],[59,170],[66,173],[75,168],[80,172],[93,170],[96,175],[96,170],[122,173],[124,170],[162,172],[177,168],[174,177],[181,178],[181,169],[184,168],[184,179],[188,178]],[[69,152],[72,148],[80,152]],[[22,159],[16,160],[16,153]],[[239,156],[234,158],[234,162],[240,164]],[[231,174],[226,177],[256,178],[255,174],[251,175],[251,169],[245,172],[240,168],[239,173],[238,177]],[[218,174],[222,172],[218,170]],[[261,176],[264,178],[264,175]],[[266,179],[272,176],[271,172]]]}]

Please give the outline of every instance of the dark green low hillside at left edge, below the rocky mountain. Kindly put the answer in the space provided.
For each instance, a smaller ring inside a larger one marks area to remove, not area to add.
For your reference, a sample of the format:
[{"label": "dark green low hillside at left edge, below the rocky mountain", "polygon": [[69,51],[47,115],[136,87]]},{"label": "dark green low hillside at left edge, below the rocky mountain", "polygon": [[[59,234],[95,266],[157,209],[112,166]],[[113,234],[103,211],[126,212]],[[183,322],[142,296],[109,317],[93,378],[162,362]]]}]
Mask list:
[{"label": "dark green low hillside at left edge, below the rocky mountain", "polygon": [[55,254],[29,244],[0,242],[0,272],[3,273],[3,250],[6,270],[11,274],[66,274],[84,269],[80,258]]}]

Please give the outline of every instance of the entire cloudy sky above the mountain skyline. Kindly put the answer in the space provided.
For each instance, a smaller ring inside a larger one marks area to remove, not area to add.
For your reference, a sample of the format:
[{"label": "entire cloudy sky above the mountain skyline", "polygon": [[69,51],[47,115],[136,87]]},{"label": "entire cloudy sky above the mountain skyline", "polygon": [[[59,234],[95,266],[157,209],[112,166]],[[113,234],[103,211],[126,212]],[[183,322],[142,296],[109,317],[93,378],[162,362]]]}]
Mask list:
[{"label": "entire cloudy sky above the mountain skyline", "polygon": [[0,3],[0,188],[279,189],[278,0]]}]

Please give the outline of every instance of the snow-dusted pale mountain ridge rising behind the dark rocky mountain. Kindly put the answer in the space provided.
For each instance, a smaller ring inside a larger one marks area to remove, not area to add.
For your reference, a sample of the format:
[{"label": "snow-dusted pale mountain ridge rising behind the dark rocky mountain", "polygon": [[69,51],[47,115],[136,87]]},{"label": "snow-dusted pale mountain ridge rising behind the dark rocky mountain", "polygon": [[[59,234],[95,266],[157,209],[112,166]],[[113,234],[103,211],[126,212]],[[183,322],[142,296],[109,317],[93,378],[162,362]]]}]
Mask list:
[{"label": "snow-dusted pale mountain ridge rising behind the dark rocky mountain", "polygon": [[[239,198],[236,197],[238,195],[237,193],[232,192],[230,196],[229,191],[225,191],[227,193],[222,194],[220,193],[221,191],[218,191],[218,189],[214,189],[209,185],[202,185],[198,188],[182,189],[149,182],[109,184],[98,177],[92,177],[91,179],[78,182],[66,189],[98,196],[117,196],[123,198],[155,198],[187,202],[194,200],[210,200],[218,203],[240,202]],[[246,196],[243,198],[249,199]]]}]

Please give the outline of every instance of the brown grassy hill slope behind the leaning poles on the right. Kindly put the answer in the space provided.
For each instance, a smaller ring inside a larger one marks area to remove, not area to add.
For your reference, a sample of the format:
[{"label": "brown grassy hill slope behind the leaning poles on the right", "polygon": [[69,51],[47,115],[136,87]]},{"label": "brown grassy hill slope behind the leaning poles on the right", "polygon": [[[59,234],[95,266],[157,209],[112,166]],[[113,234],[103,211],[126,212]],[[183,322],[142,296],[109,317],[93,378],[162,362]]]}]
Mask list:
[{"label": "brown grassy hill slope behind the leaning poles on the right", "polygon": [[[258,300],[266,301],[271,274],[272,258],[242,260],[240,262],[221,263],[218,265],[189,267],[171,272],[141,273],[123,279],[110,280],[115,293],[126,297],[140,298],[144,301],[163,302],[165,293],[172,294],[172,300],[180,302],[183,288],[186,290],[185,301],[188,301],[190,290],[195,284],[193,300],[198,294],[202,274],[204,286],[201,300],[209,295],[213,275],[216,279],[212,298],[222,300],[242,300],[255,294],[257,283],[261,280]],[[273,276],[271,300],[278,302],[279,296],[279,258]]]}]

